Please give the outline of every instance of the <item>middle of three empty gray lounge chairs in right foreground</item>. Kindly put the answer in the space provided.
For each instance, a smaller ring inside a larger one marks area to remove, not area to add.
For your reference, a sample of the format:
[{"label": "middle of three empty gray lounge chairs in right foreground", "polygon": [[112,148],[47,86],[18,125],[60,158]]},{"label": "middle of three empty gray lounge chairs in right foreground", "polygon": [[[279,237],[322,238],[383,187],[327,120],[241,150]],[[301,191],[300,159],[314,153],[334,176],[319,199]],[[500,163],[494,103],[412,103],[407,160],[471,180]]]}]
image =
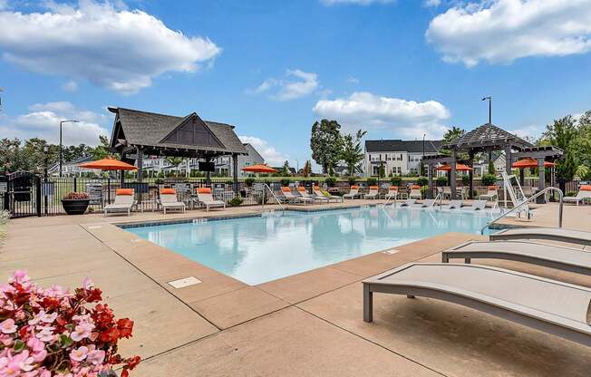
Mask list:
[{"label": "middle of three empty gray lounge chairs in right foreground", "polygon": [[580,248],[559,247],[530,241],[470,241],[442,253],[443,263],[450,259],[507,259],[547,266],[577,274],[591,275],[591,253]]}]

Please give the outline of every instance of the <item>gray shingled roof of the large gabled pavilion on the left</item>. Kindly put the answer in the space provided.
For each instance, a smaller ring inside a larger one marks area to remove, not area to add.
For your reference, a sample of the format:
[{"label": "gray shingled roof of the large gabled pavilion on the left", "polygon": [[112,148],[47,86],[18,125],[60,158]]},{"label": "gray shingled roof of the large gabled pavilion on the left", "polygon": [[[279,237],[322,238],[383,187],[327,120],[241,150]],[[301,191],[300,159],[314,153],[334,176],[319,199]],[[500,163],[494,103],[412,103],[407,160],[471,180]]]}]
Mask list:
[{"label": "gray shingled roof of the large gabled pavilion on the left", "polygon": [[[185,120],[191,113],[185,117],[159,114],[155,112],[138,111],[124,108],[109,108],[109,111],[119,115],[123,133],[128,145],[144,145],[153,147],[168,147],[171,149],[189,149],[194,150],[195,145],[181,145],[167,142],[160,142],[170,132],[174,131],[181,121]],[[208,129],[223,144],[225,148],[213,146],[199,147],[203,150],[212,150],[230,153],[247,153],[247,149],[242,145],[234,132],[234,126],[219,123],[217,121],[204,121]]]}]

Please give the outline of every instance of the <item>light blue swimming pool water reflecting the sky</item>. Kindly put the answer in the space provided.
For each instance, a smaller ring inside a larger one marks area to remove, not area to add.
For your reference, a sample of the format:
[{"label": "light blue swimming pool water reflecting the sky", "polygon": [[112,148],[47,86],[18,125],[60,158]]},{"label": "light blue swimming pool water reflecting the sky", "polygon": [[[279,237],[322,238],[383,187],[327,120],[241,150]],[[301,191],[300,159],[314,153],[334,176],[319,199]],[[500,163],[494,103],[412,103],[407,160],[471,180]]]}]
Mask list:
[{"label": "light blue swimming pool water reflecting the sky", "polygon": [[363,207],[193,220],[126,230],[249,285],[447,232],[479,233],[485,213]]}]

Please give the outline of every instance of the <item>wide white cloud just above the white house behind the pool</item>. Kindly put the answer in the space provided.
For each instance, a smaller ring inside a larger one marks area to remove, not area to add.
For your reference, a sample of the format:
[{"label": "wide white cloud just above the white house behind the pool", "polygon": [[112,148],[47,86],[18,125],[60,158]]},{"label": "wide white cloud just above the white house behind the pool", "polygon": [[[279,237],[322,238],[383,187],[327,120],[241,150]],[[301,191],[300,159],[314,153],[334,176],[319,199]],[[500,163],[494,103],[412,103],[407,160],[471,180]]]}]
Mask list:
[{"label": "wide white cloud just above the white house behind the pool", "polygon": [[349,131],[391,131],[408,139],[439,138],[447,130],[443,121],[450,111],[440,102],[414,102],[380,97],[371,92],[354,92],[348,98],[316,103],[313,111],[322,118],[334,119]]}]

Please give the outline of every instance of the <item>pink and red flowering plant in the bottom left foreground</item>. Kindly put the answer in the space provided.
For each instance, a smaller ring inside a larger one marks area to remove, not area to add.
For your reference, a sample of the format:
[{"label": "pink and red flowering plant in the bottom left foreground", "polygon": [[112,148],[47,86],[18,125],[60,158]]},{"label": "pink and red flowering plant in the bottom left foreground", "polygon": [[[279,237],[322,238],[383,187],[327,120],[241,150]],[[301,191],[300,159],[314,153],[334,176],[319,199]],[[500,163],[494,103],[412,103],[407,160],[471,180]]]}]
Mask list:
[{"label": "pink and red flowering plant in the bottom left foreground", "polygon": [[118,365],[127,377],[140,356],[124,359],[117,343],[133,321],[115,319],[101,295],[87,279],[72,293],[16,271],[0,286],[0,377],[107,377]]}]

